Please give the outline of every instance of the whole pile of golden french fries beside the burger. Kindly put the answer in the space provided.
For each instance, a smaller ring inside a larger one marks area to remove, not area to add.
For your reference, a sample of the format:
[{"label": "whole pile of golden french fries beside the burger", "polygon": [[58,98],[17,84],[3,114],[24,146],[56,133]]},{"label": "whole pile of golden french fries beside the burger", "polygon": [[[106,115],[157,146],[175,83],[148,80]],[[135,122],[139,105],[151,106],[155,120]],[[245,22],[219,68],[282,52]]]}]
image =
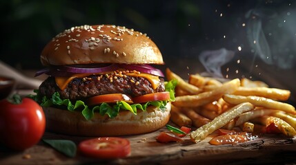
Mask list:
[{"label": "whole pile of golden french fries beside the burger", "polygon": [[190,133],[193,142],[221,128],[240,127],[252,133],[257,124],[275,124],[284,135],[296,135],[295,107],[285,103],[290,97],[288,90],[248,78],[221,81],[191,74],[184,80],[170,69],[166,69],[166,76],[177,80],[170,120],[178,126],[195,126]]}]

